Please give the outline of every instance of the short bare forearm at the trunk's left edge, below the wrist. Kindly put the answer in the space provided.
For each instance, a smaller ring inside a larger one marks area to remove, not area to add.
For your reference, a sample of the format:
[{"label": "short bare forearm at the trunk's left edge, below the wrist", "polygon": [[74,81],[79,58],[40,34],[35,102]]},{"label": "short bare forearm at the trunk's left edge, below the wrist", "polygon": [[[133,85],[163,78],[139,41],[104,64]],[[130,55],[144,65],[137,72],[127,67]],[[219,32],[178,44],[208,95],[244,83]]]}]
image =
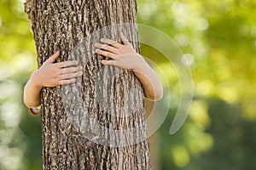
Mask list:
[{"label": "short bare forearm at the trunk's left edge, below the wrist", "polygon": [[35,85],[31,80],[26,83],[23,99],[28,108],[41,105],[41,90],[42,87]]}]

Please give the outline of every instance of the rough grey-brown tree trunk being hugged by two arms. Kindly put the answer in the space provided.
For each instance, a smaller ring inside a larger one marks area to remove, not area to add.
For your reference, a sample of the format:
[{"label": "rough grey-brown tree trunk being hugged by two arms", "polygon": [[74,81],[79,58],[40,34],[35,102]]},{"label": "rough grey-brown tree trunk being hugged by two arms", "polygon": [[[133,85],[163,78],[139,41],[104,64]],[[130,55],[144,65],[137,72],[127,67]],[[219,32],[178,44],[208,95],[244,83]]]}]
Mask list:
[{"label": "rough grey-brown tree trunk being hugged by two arms", "polygon": [[150,169],[143,88],[92,47],[123,31],[139,51],[136,0],[27,0],[25,10],[39,67],[60,50],[57,62],[84,68],[76,83],[42,90],[44,169]]}]

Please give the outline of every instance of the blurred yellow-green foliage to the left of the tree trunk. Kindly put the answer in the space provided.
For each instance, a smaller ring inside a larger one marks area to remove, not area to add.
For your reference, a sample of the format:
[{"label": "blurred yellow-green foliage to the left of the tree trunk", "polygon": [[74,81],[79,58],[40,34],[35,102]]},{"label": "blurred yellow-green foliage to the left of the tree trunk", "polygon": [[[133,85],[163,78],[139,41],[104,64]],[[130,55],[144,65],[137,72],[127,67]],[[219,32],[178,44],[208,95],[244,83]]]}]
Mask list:
[{"label": "blurred yellow-green foliage to the left of the tree trunk", "polygon": [[42,169],[40,118],[23,104],[36,69],[35,46],[23,4],[0,1],[0,169]]}]

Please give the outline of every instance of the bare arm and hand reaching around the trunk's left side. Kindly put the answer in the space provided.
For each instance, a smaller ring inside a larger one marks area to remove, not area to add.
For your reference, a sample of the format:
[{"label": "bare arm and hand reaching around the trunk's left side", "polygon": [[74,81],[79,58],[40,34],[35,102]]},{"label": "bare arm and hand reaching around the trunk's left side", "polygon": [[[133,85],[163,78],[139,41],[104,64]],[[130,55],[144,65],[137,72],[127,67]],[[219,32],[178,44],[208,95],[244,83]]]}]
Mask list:
[{"label": "bare arm and hand reaching around the trunk's left side", "polygon": [[[76,81],[82,76],[82,66],[76,60],[54,63],[60,52],[53,54],[44,64],[32,73],[24,88],[24,103],[28,108],[41,105],[40,93],[43,87],[56,87]],[[67,68],[66,68],[67,67]]]}]

